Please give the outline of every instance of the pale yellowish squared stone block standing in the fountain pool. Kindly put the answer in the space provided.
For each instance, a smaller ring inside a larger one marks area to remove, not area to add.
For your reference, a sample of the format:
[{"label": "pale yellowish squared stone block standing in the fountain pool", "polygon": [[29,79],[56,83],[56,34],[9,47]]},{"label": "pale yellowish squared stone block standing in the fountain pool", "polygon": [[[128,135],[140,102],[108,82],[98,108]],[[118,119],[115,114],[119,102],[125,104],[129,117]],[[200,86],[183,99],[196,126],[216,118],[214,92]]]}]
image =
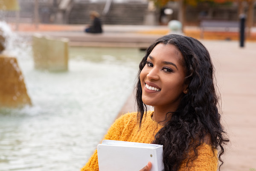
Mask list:
[{"label": "pale yellowish squared stone block standing in the fountain pool", "polygon": [[32,49],[35,69],[67,71],[69,46],[67,38],[33,35]]}]

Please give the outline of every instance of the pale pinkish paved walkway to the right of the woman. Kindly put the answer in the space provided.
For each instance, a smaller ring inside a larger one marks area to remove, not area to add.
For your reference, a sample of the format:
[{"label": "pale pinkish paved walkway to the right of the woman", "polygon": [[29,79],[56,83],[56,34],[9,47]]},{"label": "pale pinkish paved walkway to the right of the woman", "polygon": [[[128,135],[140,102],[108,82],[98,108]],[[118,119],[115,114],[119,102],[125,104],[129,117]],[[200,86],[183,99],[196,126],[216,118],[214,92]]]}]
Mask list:
[{"label": "pale pinkish paved walkway to the right of the woman", "polygon": [[216,69],[222,101],[222,122],[231,143],[224,171],[256,168],[256,42],[203,41]]}]

